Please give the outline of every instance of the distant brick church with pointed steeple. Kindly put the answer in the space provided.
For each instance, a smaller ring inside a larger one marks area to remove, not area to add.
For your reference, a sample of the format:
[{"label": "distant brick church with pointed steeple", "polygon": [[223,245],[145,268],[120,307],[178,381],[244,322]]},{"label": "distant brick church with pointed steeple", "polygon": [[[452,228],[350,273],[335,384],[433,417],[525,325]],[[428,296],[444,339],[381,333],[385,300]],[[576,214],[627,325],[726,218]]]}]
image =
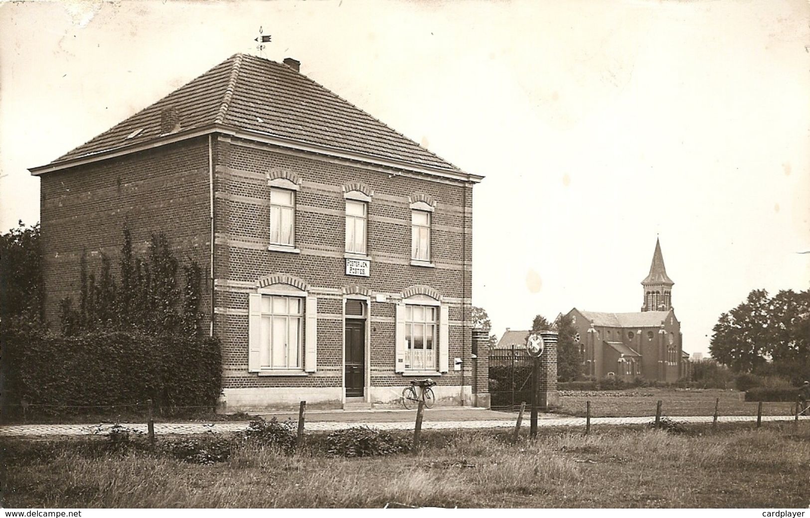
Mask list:
[{"label": "distant brick church with pointed steeple", "polygon": [[684,366],[683,336],[672,308],[672,286],[655,242],[650,274],[642,281],[641,312],[607,313],[573,308],[568,315],[577,329],[582,369],[595,379],[618,376],[630,380],[672,382],[689,372]]}]

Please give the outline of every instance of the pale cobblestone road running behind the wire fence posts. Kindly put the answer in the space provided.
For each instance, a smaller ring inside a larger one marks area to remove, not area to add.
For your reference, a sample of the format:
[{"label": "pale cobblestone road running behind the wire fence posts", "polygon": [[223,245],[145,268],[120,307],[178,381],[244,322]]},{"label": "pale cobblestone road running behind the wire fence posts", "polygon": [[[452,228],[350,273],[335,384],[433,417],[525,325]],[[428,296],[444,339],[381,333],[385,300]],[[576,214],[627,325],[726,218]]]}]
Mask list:
[{"label": "pale cobblestone road running behind the wire fence posts", "polygon": [[[633,418],[590,418],[591,426],[599,425],[632,425],[646,424],[653,421],[653,417],[633,417]],[[712,422],[710,415],[679,416],[670,418],[676,422]],[[763,422],[792,421],[792,415],[763,415]],[[810,421],[810,416],[802,416],[802,421]],[[718,418],[718,422],[756,422],[756,416],[737,415]],[[453,428],[507,428],[514,427],[514,419],[475,419],[466,421],[425,421],[422,423],[424,430],[447,430]],[[320,421],[307,422],[307,431],[333,431],[344,428],[355,427],[360,424],[367,425],[379,430],[411,430],[411,421],[397,422],[375,422],[369,419],[367,422],[338,422]],[[528,418],[524,419],[524,426],[528,426]],[[246,421],[231,422],[159,422],[155,423],[156,435],[187,435],[211,432],[232,432],[242,431],[247,427]],[[126,424],[122,425],[130,430],[143,433],[147,432],[146,424]],[[539,427],[584,427],[585,418],[543,418],[538,420]],[[49,436],[77,436],[77,435],[106,435],[113,427],[112,424],[30,424],[30,425],[10,425],[0,427],[2,437],[49,437]]]}]

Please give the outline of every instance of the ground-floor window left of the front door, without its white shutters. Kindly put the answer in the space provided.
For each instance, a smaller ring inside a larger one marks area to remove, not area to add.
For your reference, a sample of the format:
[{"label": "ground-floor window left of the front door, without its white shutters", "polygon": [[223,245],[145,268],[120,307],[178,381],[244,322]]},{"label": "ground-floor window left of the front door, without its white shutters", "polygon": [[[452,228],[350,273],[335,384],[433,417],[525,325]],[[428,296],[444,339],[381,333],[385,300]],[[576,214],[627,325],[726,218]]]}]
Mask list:
[{"label": "ground-floor window left of the front door, without its white shutters", "polygon": [[262,295],[261,367],[300,369],[304,299]]}]

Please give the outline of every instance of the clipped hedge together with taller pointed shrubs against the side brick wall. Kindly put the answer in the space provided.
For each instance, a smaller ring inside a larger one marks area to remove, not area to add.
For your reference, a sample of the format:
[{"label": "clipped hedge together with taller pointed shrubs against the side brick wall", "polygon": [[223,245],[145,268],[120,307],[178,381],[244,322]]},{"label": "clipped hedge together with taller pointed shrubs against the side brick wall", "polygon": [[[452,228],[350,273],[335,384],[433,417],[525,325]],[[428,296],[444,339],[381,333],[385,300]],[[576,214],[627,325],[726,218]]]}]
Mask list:
[{"label": "clipped hedge together with taller pointed shrubs against the side brick wall", "polygon": [[78,308],[62,300],[62,333],[4,329],[4,417],[19,414],[23,402],[36,414],[105,413],[112,409],[98,407],[148,399],[159,407],[215,405],[221,350],[199,326],[198,265],[180,268],[161,235],[152,236],[147,258],[134,257],[127,230],[121,257],[120,283],[106,257],[98,282],[82,259]]}]

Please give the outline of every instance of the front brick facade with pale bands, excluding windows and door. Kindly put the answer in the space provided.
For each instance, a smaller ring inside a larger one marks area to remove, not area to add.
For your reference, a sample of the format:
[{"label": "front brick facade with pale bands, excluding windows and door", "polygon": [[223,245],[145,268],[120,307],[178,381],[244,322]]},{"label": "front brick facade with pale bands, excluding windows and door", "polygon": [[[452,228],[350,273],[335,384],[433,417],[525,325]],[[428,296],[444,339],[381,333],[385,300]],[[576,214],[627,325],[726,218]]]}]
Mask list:
[{"label": "front brick facade with pale bands, excluding windows and door", "polygon": [[[372,386],[407,384],[394,373],[394,303],[415,285],[429,287],[450,308],[450,372],[437,381],[471,385],[471,185],[426,180],[339,161],[282,152],[222,138],[215,153],[215,332],[223,339],[225,388],[333,386],[343,384],[343,301],[358,286],[370,297],[368,374]],[[268,250],[271,177],[292,179],[296,192],[296,239],[300,253]],[[369,202],[369,277],[348,276],[344,263],[345,190],[372,193]],[[435,202],[431,259],[411,265],[414,199]],[[465,266],[466,263],[466,266]],[[247,371],[247,298],[258,278],[300,278],[318,296],[318,372],[258,376]],[[386,295],[378,302],[373,295]],[[463,359],[454,371],[454,358]]]}]

